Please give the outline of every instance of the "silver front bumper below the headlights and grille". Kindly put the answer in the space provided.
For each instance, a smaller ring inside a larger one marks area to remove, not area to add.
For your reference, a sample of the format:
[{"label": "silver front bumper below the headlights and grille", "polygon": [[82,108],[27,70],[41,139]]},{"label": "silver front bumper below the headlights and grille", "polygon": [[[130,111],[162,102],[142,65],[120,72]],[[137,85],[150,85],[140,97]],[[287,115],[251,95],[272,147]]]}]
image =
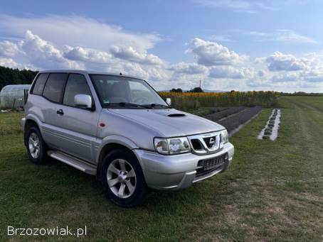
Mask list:
[{"label": "silver front bumper below the headlights and grille", "polygon": [[[210,155],[194,155],[193,153],[160,155],[147,150],[135,149],[133,151],[142,165],[148,187],[183,189],[226,170],[232,162],[234,147],[231,143],[226,143],[222,150]],[[196,176],[199,160],[215,158],[226,153],[228,153],[228,159],[223,165],[204,175]]]}]

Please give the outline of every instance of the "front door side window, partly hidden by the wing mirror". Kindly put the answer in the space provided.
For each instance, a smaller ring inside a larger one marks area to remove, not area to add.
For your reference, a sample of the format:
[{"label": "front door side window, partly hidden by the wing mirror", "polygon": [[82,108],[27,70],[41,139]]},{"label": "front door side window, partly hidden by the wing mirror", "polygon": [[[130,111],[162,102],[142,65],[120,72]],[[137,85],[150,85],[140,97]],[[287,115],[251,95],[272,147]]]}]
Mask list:
[{"label": "front door side window, partly hidden by the wing mirror", "polygon": [[87,94],[92,96],[85,77],[80,74],[70,74],[68,76],[68,83],[65,87],[63,104],[68,106],[75,106],[74,97],[77,94]]}]

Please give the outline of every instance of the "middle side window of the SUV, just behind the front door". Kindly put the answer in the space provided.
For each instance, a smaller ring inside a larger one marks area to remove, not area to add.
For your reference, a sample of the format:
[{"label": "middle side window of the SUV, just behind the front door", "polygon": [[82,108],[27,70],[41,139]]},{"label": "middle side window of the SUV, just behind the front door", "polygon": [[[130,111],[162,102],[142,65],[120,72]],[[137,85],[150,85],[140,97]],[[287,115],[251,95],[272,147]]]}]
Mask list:
[{"label": "middle side window of the SUV, just behind the front door", "polygon": [[43,97],[55,102],[62,101],[67,76],[65,73],[51,73],[43,90]]}]

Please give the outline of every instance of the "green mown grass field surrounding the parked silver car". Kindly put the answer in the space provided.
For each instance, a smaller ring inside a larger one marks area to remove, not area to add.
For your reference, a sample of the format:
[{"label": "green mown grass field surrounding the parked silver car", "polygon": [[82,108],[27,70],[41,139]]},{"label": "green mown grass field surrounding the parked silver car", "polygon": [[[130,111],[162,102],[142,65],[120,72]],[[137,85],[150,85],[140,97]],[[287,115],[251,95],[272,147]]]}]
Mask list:
[{"label": "green mown grass field surrounding the parked silver car", "polygon": [[152,192],[134,209],[108,201],[95,177],[55,161],[30,163],[20,114],[0,114],[0,241],[13,238],[6,226],[66,225],[86,225],[92,241],[322,241],[323,97],[279,102],[277,141],[256,138],[272,111],[263,109],[231,138],[228,172],[182,191]]}]

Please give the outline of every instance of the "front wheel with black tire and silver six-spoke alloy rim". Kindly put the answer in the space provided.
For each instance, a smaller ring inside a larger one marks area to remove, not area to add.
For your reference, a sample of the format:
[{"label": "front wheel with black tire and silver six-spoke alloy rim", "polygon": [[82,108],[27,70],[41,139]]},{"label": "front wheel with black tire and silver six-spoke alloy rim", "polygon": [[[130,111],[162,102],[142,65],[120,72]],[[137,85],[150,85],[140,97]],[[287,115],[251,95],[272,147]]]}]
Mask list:
[{"label": "front wheel with black tire and silver six-spoke alloy rim", "polygon": [[108,153],[102,162],[100,180],[107,197],[121,207],[141,204],[148,188],[134,154],[127,149],[116,149]]}]

